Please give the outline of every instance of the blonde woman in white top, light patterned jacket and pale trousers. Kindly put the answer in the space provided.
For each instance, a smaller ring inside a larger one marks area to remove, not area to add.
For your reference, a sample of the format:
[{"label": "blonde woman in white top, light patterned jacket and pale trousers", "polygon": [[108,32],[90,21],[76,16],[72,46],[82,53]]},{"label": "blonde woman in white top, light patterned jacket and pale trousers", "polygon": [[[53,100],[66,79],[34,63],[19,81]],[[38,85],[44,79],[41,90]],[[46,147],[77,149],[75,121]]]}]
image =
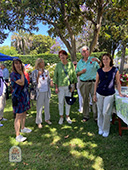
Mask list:
[{"label": "blonde woman in white top, light patterned jacket and pale trousers", "polygon": [[38,58],[35,64],[35,81],[37,82],[37,114],[36,114],[36,124],[38,124],[38,128],[42,128],[42,110],[44,106],[45,113],[45,122],[49,125],[52,124],[50,122],[50,112],[49,112],[49,101],[51,97],[50,84],[52,85],[52,81],[49,76],[49,72],[44,69],[44,60]]}]

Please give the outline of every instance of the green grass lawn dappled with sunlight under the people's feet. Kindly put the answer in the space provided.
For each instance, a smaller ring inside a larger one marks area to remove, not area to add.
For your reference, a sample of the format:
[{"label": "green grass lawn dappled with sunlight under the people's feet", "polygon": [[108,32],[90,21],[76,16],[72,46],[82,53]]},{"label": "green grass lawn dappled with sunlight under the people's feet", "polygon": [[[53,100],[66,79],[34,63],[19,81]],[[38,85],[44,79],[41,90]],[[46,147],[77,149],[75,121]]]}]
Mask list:
[{"label": "green grass lawn dappled with sunlight under the people's feet", "polygon": [[[92,114],[88,122],[81,121],[78,99],[71,107],[73,123],[58,124],[58,100],[52,92],[50,102],[52,125],[44,123],[42,129],[35,124],[36,107],[29,110],[26,127],[32,129],[24,134],[27,141],[15,141],[14,119],[11,99],[7,101],[4,117],[8,119],[0,127],[0,170],[127,170],[128,131],[118,135],[118,123],[111,124],[108,138],[98,135],[98,128]],[[44,114],[43,114],[44,120]],[[19,146],[22,161],[9,162],[9,149]]]}]

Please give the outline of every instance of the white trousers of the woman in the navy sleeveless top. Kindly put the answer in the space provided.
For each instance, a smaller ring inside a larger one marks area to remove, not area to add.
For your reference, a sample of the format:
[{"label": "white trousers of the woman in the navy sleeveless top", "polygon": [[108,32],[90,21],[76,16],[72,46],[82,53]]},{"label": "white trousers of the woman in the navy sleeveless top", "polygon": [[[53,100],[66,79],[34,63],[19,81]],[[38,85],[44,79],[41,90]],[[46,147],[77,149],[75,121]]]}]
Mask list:
[{"label": "white trousers of the woman in the navy sleeveless top", "polygon": [[102,96],[97,93],[97,109],[98,109],[98,127],[99,130],[109,133],[110,117],[112,114],[114,103],[114,94],[110,96]]}]

